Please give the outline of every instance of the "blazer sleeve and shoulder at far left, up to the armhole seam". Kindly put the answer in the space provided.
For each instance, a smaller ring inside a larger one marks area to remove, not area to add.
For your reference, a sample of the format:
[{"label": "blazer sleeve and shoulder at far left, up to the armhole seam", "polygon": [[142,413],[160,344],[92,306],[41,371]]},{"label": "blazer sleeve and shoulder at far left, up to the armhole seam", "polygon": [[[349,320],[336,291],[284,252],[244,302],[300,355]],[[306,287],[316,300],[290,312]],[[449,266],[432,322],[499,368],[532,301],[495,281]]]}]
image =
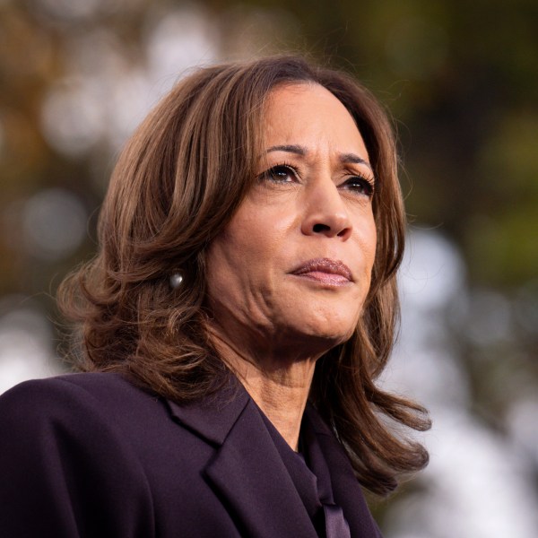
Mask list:
[{"label": "blazer sleeve and shoulder at far left, up to the armhole seam", "polygon": [[117,412],[141,397],[123,377],[93,373],[1,395],[0,534],[152,536],[145,468]]}]

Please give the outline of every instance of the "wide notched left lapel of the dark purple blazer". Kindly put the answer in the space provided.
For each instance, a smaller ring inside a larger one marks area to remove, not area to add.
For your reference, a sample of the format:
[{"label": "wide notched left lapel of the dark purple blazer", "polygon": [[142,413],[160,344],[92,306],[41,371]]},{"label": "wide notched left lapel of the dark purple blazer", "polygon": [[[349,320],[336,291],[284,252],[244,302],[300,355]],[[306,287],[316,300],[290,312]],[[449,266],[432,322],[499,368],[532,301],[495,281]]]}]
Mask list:
[{"label": "wide notched left lapel of the dark purple blazer", "polygon": [[216,445],[205,476],[238,522],[241,535],[317,538],[256,404],[237,385],[222,390],[209,404],[169,403],[170,410]]}]

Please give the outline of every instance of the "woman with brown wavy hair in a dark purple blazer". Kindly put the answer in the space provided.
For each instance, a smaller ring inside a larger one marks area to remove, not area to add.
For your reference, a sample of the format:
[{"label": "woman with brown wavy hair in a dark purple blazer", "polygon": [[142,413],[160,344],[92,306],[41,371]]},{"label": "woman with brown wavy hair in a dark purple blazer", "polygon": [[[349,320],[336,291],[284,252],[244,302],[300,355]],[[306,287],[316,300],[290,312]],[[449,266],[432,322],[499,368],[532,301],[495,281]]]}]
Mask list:
[{"label": "woman with brown wavy hair in a dark purple blazer", "polygon": [[428,421],[374,384],[404,213],[369,93],[296,57],[191,74],[99,233],[60,293],[92,373],[1,399],[0,534],[379,536],[360,485],[423,467],[390,422]]}]

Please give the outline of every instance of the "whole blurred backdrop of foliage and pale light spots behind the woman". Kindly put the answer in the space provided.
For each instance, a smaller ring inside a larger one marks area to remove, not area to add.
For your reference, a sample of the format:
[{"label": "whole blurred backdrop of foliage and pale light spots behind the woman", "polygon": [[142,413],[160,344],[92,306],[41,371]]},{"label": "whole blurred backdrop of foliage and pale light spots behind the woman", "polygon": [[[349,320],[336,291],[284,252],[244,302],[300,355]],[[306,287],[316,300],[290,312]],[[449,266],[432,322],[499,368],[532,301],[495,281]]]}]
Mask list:
[{"label": "whole blurred backdrop of foliage and pale light spots behind the woman", "polygon": [[538,536],[535,0],[0,0],[0,392],[65,369],[56,286],[95,250],[117,152],[194,65],[305,51],[395,120],[410,217],[380,381],[430,407],[387,538]]}]

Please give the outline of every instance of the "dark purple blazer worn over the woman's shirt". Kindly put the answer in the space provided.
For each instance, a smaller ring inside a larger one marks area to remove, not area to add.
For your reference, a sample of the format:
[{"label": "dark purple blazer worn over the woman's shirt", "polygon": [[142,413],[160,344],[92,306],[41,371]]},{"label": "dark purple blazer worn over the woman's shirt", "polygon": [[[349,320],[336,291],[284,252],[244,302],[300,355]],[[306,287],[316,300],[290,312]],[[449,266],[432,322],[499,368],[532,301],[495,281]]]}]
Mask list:
[{"label": "dark purple blazer worn over the woman's shirt", "polygon": [[[353,537],[378,537],[351,464],[308,407]],[[316,538],[242,387],[180,406],[117,374],[0,396],[0,536]]]}]

